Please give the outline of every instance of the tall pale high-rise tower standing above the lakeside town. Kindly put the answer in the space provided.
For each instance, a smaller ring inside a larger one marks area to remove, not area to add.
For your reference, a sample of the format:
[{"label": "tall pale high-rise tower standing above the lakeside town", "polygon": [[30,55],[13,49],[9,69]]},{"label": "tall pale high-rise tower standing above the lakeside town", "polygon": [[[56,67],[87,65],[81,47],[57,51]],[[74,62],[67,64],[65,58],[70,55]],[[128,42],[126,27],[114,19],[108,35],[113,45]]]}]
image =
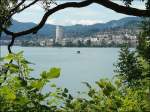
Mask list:
[{"label": "tall pale high-rise tower standing above the lakeside town", "polygon": [[56,38],[55,43],[61,43],[64,37],[64,30],[62,26],[56,26]]}]

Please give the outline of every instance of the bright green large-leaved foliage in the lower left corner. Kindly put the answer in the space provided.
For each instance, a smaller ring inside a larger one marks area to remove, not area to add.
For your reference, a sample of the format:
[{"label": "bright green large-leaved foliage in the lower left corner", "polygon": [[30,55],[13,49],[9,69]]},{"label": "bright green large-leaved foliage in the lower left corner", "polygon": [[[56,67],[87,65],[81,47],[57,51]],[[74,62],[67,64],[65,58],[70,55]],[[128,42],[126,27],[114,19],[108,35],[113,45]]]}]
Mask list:
[{"label": "bright green large-leaved foliage in the lower left corner", "polygon": [[[1,60],[5,61],[0,75],[0,111],[41,111],[52,110],[50,105],[44,105],[51,95],[42,93],[42,89],[51,79],[58,78],[59,68],[51,68],[41,73],[36,79],[29,73],[32,69],[23,57],[23,52],[8,54]],[[13,63],[8,63],[13,60]]]}]

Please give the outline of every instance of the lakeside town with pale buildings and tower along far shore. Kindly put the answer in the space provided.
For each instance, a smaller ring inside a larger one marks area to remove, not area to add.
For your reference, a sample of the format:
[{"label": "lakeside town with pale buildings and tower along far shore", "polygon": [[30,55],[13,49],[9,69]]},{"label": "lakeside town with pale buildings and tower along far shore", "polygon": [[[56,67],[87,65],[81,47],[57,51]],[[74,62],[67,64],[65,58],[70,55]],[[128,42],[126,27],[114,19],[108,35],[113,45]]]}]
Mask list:
[{"label": "lakeside town with pale buildings and tower along far shore", "polygon": [[[86,37],[66,37],[62,26],[56,27],[56,34],[53,38],[33,36],[30,40],[15,40],[16,46],[35,47],[120,47],[124,43],[130,47],[136,47],[138,41],[138,30],[128,29],[107,30],[95,33]],[[8,45],[7,40],[0,40],[1,45]]]}]

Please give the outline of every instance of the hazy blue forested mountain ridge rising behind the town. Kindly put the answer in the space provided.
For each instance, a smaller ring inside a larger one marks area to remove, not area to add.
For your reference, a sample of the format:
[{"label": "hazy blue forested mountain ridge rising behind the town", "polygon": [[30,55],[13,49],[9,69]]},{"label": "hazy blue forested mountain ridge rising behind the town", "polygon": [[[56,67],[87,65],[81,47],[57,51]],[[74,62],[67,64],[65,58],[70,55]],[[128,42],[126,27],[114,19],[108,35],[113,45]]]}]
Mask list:
[{"label": "hazy blue forested mountain ridge rising behind the town", "polygon": [[[135,29],[138,27],[139,22],[142,19],[139,17],[126,17],[120,20],[113,20],[107,23],[98,23],[94,25],[72,25],[72,26],[64,26],[64,34],[66,37],[85,37],[90,36],[94,33],[103,31],[103,30],[110,30],[116,28],[128,28],[128,29]],[[36,26],[35,23],[22,23],[16,20],[12,21],[12,25],[10,26],[9,30],[18,32],[23,31],[29,28]],[[55,25],[45,24],[42,29],[39,30],[37,35],[42,37],[55,37]],[[28,35],[29,38],[31,35]]]}]

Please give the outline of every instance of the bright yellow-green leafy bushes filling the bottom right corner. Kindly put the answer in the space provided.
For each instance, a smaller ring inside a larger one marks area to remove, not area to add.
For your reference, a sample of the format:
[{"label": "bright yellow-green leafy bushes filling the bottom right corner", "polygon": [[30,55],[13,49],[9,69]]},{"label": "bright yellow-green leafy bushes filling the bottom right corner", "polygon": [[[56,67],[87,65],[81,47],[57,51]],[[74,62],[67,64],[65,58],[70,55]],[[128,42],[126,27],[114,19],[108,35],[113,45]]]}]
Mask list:
[{"label": "bright yellow-green leafy bushes filling the bottom right corner", "polygon": [[[116,82],[117,83],[117,82]],[[148,112],[150,102],[146,88],[124,88],[108,80],[97,82],[98,89],[89,88],[88,98],[71,100],[61,111],[66,112]],[[146,86],[146,85],[145,85]],[[147,86],[148,87],[148,86]]]}]

